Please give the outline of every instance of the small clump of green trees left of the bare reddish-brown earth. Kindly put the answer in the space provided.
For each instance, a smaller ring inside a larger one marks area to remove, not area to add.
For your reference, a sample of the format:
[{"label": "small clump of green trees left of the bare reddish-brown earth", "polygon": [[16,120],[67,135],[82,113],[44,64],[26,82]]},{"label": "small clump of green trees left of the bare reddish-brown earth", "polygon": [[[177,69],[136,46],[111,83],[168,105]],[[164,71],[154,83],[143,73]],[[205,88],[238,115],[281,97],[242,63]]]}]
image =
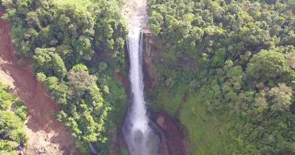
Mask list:
[{"label": "small clump of green trees left of the bare reddish-brown earth", "polygon": [[27,143],[24,132],[27,108],[0,83],[0,154],[17,155],[17,147]]}]

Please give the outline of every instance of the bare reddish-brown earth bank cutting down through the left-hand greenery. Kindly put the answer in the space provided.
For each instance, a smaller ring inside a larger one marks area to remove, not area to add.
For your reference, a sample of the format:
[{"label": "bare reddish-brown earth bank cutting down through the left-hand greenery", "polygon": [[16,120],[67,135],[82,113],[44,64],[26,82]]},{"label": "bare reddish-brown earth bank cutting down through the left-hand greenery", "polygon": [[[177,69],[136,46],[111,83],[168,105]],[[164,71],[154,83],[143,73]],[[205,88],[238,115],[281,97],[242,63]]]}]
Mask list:
[{"label": "bare reddish-brown earth bank cutting down through the left-hand greenery", "polygon": [[[5,13],[0,8],[0,16]],[[29,138],[26,154],[77,154],[75,142],[63,123],[51,114],[58,105],[47,94],[43,84],[35,80],[31,63],[17,64],[10,38],[10,25],[0,19],[0,81],[10,86],[10,91],[21,98],[28,109],[25,132]]]}]

